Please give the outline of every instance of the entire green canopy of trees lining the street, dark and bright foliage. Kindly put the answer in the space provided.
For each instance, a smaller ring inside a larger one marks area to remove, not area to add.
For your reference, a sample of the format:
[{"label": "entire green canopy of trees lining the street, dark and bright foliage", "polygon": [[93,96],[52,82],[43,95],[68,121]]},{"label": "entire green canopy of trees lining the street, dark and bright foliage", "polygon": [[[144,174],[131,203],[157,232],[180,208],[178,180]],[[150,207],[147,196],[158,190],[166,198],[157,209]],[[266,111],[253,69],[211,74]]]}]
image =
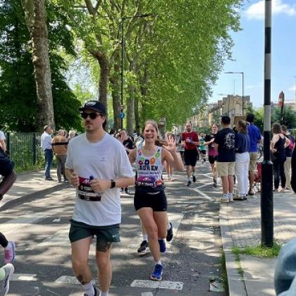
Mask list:
[{"label": "entire green canopy of trees lining the street, dark and bright foliage", "polygon": [[[11,130],[31,131],[40,116],[32,47],[20,0],[0,0],[0,120]],[[202,108],[223,63],[231,56],[231,31],[240,30],[241,0],[48,0],[54,119],[56,126],[81,129],[78,106],[96,97],[120,127],[121,63],[123,103],[129,130],[147,118],[166,117],[168,128]],[[122,30],[123,29],[123,30]],[[121,38],[124,55],[121,56]],[[123,58],[123,60],[122,60]],[[83,61],[92,73],[89,90],[69,61]],[[16,110],[16,106],[18,106]]]}]

